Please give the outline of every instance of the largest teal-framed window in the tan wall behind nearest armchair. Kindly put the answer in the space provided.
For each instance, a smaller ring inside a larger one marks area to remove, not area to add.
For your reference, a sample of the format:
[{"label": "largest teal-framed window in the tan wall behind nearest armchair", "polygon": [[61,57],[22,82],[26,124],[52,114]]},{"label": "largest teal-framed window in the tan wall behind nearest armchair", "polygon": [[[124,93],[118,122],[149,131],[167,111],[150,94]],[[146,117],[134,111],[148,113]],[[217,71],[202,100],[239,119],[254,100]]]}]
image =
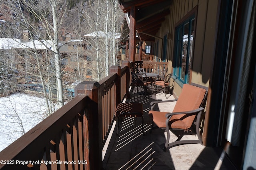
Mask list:
[{"label": "largest teal-framed window in the tan wall behind nearest armchair", "polygon": [[195,16],[190,16],[175,30],[174,75],[183,84],[189,83],[193,54]]}]

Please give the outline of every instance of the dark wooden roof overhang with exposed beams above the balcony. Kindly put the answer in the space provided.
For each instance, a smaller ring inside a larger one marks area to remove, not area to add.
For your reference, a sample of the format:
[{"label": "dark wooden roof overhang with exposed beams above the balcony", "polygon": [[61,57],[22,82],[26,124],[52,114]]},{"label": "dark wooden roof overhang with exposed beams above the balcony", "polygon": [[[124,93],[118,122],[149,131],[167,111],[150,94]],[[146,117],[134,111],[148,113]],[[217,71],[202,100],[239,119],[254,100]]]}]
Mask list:
[{"label": "dark wooden roof overhang with exposed beams above the balcony", "polygon": [[118,0],[124,13],[136,8],[136,32],[142,41],[154,41],[165,16],[170,14],[172,0]]}]

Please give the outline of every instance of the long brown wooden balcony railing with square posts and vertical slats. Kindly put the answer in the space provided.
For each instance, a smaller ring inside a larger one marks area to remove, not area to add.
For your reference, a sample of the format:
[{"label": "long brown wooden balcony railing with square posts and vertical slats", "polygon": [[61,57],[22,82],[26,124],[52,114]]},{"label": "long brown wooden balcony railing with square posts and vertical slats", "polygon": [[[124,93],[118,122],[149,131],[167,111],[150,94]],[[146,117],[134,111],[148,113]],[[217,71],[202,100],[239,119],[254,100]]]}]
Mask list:
[{"label": "long brown wooden balcony railing with square posts and vertical slats", "polygon": [[100,82],[82,82],[76,97],[0,152],[0,170],[100,170],[114,109],[129,94],[130,63]]}]

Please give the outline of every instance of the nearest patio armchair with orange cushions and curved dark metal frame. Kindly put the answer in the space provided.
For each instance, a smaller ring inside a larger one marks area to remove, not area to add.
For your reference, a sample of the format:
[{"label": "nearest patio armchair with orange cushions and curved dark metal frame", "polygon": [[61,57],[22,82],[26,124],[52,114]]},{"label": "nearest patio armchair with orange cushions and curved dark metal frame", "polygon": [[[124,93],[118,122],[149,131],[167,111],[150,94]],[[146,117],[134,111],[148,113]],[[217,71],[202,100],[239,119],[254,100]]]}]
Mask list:
[{"label": "nearest patio armchair with orange cushions and curved dark metal frame", "polygon": [[[159,128],[165,129],[167,132],[164,150],[181,144],[203,144],[201,116],[204,112],[207,94],[207,87],[198,84],[184,84],[178,99],[150,103],[151,108],[148,114],[153,120],[151,131],[153,130],[154,124],[156,124]],[[176,101],[176,104],[172,112],[154,111],[158,103],[174,101]],[[178,137],[172,143],[169,143],[170,131]],[[197,135],[198,140],[181,140],[184,135]]]}]

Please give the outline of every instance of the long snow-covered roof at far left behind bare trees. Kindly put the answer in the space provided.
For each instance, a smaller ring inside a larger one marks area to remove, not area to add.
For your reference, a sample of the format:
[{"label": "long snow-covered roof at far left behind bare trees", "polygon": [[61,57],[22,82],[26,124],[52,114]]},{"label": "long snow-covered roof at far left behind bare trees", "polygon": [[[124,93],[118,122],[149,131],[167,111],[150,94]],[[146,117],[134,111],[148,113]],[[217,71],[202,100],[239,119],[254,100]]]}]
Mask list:
[{"label": "long snow-covered roof at far left behind bare trees", "polygon": [[52,47],[52,41],[34,40],[34,43],[33,43],[32,41],[21,42],[21,40],[17,38],[0,38],[0,49],[7,49],[7,50],[10,50],[12,48],[34,49],[34,45],[36,49],[49,49]]}]

